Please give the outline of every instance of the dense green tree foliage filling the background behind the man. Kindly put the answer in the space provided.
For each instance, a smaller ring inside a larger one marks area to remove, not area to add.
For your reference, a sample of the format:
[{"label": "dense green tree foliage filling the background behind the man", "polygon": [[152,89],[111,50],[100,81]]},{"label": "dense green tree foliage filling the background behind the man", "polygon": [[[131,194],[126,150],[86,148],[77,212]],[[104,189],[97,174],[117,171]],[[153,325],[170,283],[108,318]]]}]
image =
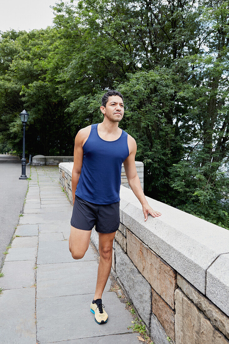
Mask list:
[{"label": "dense green tree foliage filling the background behind the man", "polygon": [[[229,228],[229,3],[58,2],[53,27],[0,40],[0,150],[73,155],[118,89],[144,193]],[[40,135],[40,144],[37,136]]]}]

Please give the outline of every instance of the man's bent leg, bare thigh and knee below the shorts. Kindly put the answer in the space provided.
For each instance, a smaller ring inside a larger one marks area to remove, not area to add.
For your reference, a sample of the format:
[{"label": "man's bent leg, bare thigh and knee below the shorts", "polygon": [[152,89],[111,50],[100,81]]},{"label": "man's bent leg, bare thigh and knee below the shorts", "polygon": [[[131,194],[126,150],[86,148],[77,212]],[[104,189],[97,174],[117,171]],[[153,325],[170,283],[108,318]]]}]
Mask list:
[{"label": "man's bent leg, bare thigh and knee below the shorts", "polygon": [[81,259],[89,247],[91,230],[82,230],[71,226],[69,251],[74,259]]}]

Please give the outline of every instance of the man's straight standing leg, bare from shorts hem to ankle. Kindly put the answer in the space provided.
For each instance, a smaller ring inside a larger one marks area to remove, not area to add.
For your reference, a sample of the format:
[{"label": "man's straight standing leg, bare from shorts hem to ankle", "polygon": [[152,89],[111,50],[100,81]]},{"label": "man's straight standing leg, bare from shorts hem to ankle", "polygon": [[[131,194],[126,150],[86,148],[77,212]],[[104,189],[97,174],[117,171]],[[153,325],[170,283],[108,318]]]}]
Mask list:
[{"label": "man's straight standing leg, bare from shorts hem to ankle", "polygon": [[112,264],[112,246],[116,232],[99,233],[99,267],[94,300],[101,299],[106,286]]}]

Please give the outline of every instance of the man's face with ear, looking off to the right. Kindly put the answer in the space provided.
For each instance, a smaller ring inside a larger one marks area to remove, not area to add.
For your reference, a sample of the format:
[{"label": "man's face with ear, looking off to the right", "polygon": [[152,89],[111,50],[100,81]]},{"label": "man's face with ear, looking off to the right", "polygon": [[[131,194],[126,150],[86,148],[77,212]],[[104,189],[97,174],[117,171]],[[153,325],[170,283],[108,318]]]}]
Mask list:
[{"label": "man's face with ear, looking off to the right", "polygon": [[122,98],[119,96],[108,97],[106,107],[101,106],[100,110],[104,115],[106,114],[110,121],[121,121],[124,114],[124,104]]}]

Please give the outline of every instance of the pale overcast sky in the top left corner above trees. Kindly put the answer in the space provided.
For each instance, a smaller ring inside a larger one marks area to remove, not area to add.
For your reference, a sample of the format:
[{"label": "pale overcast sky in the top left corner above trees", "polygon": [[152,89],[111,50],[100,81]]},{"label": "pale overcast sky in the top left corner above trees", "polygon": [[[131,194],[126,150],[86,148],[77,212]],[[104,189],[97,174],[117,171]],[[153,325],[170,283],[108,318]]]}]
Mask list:
[{"label": "pale overcast sky in the top left corner above trees", "polygon": [[46,28],[54,17],[50,6],[57,0],[1,0],[0,31]]}]

